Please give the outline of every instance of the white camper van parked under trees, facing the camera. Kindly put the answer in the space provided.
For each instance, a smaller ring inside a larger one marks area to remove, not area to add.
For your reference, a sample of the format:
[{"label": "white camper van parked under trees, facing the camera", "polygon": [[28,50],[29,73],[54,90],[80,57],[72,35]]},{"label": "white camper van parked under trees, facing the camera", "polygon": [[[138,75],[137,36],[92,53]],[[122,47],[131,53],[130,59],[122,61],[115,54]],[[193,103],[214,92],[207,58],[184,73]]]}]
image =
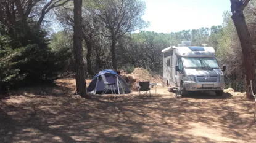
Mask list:
[{"label": "white camper van parked under trees, facing the camera", "polygon": [[215,91],[223,95],[223,71],[215,59],[213,47],[191,46],[189,41],[162,50],[163,82],[171,90],[181,88],[181,95],[190,91]]}]

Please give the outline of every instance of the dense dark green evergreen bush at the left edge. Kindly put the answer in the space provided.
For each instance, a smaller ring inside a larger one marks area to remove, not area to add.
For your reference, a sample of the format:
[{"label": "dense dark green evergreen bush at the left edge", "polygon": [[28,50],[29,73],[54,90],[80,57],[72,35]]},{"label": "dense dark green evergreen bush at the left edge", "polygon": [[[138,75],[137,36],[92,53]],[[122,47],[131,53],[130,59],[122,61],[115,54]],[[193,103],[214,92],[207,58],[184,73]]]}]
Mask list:
[{"label": "dense dark green evergreen bush at the left edge", "polygon": [[52,50],[44,31],[23,28],[17,25],[15,34],[0,37],[2,87],[56,79],[70,56],[65,48]]}]

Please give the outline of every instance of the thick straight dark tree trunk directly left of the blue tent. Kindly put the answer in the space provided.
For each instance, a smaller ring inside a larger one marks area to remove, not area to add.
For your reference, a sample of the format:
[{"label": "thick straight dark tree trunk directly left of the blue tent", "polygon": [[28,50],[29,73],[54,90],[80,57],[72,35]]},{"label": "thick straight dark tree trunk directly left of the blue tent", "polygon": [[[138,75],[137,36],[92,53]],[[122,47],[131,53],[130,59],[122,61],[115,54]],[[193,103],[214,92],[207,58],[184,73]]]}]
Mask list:
[{"label": "thick straight dark tree trunk directly left of the blue tent", "polygon": [[82,39],[82,2],[83,0],[74,1],[74,59],[76,72],[76,91],[83,97],[87,96],[85,82],[85,65],[83,62],[83,39]]}]

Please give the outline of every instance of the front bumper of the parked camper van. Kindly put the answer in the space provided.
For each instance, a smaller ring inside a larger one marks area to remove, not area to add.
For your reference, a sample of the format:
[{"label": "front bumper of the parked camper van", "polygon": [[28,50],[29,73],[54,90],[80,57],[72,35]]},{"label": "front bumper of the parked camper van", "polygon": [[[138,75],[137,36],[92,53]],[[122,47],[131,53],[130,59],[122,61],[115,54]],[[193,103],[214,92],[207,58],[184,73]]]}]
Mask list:
[{"label": "front bumper of the parked camper van", "polygon": [[218,91],[224,90],[225,83],[196,83],[184,82],[186,91]]}]

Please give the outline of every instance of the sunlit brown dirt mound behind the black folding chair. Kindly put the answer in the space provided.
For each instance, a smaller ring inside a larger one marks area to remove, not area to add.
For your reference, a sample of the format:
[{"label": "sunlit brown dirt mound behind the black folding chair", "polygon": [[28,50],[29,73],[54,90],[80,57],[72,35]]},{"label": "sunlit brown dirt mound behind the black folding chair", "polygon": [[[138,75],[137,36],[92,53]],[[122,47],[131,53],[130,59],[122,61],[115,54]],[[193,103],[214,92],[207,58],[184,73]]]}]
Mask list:
[{"label": "sunlit brown dirt mound behind the black folding chair", "polygon": [[131,90],[136,90],[136,84],[139,82],[149,81],[150,83],[162,84],[162,77],[159,74],[154,74],[144,68],[135,68],[131,74],[126,74],[125,71],[120,71],[120,76],[126,80]]}]

